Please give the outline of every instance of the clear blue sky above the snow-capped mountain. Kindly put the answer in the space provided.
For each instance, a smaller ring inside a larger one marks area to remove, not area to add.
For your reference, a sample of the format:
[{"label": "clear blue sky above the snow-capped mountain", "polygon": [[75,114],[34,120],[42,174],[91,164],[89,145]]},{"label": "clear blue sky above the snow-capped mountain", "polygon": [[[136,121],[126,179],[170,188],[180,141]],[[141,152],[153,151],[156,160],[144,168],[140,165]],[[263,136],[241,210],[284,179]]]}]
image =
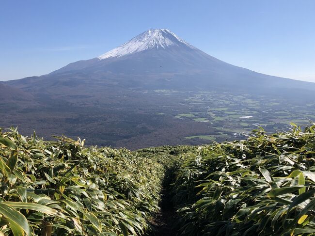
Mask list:
[{"label": "clear blue sky above the snow-capped mountain", "polygon": [[315,82],[315,0],[1,0],[0,80],[97,57],[150,28],[227,63]]}]

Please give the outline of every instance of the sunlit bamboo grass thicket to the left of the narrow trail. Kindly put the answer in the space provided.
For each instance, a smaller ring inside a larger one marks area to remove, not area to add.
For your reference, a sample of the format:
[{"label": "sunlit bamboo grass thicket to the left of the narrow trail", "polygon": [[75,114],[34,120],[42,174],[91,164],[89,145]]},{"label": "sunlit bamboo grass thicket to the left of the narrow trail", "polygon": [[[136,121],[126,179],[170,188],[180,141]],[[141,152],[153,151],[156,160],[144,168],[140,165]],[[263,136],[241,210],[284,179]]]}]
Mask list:
[{"label": "sunlit bamboo grass thicket to the left of the narrow trail", "polygon": [[1,235],[141,235],[163,169],[126,149],[0,131]]}]

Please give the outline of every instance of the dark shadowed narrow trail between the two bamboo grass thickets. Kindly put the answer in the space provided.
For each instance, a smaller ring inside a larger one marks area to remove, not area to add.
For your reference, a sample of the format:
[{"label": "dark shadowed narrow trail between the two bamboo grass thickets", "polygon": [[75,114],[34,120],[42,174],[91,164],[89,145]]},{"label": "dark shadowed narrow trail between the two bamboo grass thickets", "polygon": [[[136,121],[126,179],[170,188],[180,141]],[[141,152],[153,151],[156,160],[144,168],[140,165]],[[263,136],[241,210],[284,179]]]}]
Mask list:
[{"label": "dark shadowed narrow trail between the two bamboo grass thickets", "polygon": [[155,216],[152,222],[154,232],[150,236],[176,236],[177,232],[173,230],[174,213],[171,198],[166,189],[161,192],[162,201],[160,202],[161,211]]}]

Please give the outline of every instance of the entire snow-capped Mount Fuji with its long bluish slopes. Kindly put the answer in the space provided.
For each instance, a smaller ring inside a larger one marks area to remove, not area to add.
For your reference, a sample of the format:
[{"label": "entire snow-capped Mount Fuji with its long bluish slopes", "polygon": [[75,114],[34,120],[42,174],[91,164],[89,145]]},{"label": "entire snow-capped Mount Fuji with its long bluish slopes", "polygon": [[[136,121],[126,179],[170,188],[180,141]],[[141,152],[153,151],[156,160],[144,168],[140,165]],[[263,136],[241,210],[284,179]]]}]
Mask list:
[{"label": "entire snow-capped Mount Fuji with its long bluish slopes", "polygon": [[[150,29],[96,58],[70,63],[48,75],[6,82],[25,91],[58,93],[83,85],[119,88],[233,90],[304,94],[315,83],[268,76],[234,66],[193,47],[167,29]],[[57,91],[54,87],[58,86]],[[75,92],[80,94],[78,88]]]}]

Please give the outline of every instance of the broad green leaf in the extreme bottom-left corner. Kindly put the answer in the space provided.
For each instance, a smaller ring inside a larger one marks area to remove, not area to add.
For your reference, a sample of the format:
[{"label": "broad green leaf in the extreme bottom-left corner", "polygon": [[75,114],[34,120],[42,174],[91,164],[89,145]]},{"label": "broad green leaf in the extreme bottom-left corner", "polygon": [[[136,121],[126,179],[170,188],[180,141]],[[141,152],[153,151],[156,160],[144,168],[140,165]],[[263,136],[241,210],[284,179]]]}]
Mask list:
[{"label": "broad green leaf in the extreme bottom-left corner", "polygon": [[18,230],[20,228],[24,230],[26,235],[30,235],[29,223],[26,220],[25,216],[23,216],[20,212],[10,207],[9,205],[0,203],[0,214],[5,216],[9,223],[12,224],[14,228],[16,228],[16,232],[20,232],[20,230]]}]

